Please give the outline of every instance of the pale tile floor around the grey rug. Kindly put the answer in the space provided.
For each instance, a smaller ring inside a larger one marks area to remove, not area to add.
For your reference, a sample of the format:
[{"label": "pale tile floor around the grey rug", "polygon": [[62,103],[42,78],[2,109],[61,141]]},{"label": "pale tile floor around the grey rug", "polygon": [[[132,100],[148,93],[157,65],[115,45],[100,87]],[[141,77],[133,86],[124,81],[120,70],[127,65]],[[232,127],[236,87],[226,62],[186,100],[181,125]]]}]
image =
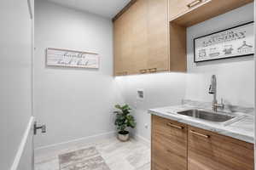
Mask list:
[{"label": "pale tile floor around the grey rug", "polygon": [[59,150],[35,157],[36,170],[60,170],[59,155],[94,146],[111,170],[150,170],[150,148],[141,141],[131,139],[104,139],[95,144],[79,144],[66,150]]}]

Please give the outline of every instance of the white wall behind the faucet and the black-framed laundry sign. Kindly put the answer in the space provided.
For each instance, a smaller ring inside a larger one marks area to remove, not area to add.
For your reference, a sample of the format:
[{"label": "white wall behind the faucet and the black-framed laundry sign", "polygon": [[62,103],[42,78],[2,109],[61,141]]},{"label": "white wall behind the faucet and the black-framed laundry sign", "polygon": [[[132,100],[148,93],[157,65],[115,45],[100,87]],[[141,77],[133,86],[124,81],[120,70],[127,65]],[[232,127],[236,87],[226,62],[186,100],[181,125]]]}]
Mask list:
[{"label": "white wall behind the faucet and the black-framed laundry sign", "polygon": [[231,105],[254,105],[253,56],[194,63],[193,39],[253,20],[253,3],[219,15],[187,29],[188,78],[186,99],[212,100],[208,88],[212,74],[217,75],[218,100]]}]

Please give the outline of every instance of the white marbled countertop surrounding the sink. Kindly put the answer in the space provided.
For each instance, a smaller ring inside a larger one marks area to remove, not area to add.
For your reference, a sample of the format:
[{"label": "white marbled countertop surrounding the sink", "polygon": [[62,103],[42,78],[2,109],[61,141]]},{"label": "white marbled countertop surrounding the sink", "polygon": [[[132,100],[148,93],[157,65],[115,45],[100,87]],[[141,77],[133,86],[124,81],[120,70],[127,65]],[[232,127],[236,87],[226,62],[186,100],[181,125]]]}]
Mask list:
[{"label": "white marbled countertop surrounding the sink", "polygon": [[[162,108],[149,109],[148,113],[156,116],[162,116],[173,121],[182,122],[193,127],[200,127],[215,133],[223,134],[234,139],[240,139],[248,143],[254,143],[254,116],[245,113],[238,113],[243,115],[243,118],[230,122],[229,124],[222,124],[218,122],[208,122],[195,117],[183,116],[177,114],[177,111],[185,111],[189,109],[196,109],[192,105],[176,105]],[[230,113],[232,114],[232,113]]]}]

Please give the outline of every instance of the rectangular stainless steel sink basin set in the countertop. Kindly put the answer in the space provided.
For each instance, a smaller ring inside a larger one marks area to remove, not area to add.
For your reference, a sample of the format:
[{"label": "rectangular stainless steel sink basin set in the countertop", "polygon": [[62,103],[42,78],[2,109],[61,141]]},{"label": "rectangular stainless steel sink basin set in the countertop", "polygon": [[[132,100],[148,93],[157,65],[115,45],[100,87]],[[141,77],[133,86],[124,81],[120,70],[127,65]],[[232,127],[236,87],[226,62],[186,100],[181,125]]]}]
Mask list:
[{"label": "rectangular stainless steel sink basin set in the countertop", "polygon": [[211,121],[211,122],[227,122],[236,116],[230,116],[230,115],[224,115],[224,114],[218,114],[211,111],[201,111],[201,110],[187,110],[187,111],[179,111],[177,112],[179,115],[183,116],[191,116],[198,119],[203,119],[205,121]]}]

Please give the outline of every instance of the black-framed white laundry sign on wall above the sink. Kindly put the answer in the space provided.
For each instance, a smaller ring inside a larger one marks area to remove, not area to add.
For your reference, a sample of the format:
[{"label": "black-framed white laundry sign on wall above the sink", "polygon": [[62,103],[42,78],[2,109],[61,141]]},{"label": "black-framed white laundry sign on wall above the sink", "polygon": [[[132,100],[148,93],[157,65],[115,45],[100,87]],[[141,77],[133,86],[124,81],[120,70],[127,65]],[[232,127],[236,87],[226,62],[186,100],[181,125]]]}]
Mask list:
[{"label": "black-framed white laundry sign on wall above the sink", "polygon": [[254,54],[253,21],[194,39],[195,63]]}]

